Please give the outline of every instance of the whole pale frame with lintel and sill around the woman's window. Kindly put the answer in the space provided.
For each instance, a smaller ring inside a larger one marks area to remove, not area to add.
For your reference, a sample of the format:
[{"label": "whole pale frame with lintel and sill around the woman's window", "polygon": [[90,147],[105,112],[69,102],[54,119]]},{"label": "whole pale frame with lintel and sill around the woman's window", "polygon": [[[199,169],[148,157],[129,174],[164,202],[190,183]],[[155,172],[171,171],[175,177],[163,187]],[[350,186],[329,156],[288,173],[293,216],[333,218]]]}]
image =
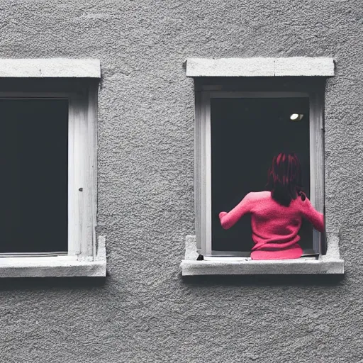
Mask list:
[{"label": "whole pale frame with lintel and sill around the woman's window", "polygon": [[[344,274],[344,260],[340,258],[339,235],[326,231],[326,251],[321,251],[321,238],[315,232],[314,249],[318,257],[300,259],[252,260],[250,257],[207,257],[201,260],[201,253],[211,253],[211,123],[210,99],[214,91],[229,89],[218,79],[242,79],[243,77],[333,77],[335,62],[325,57],[257,57],[257,58],[191,58],[184,62],[186,76],[209,79],[201,82],[195,90],[195,211],[196,235],[186,236],[184,259],[181,261],[182,276],[196,275],[238,275],[238,274]],[[213,79],[213,82],[210,82]],[[204,84],[202,87],[201,84]],[[235,82],[232,87],[235,89]],[[243,82],[242,82],[243,84]],[[313,82],[314,84],[314,82]],[[237,87],[239,88],[239,87]],[[279,86],[279,89],[281,86]],[[245,86],[243,87],[245,90]],[[271,87],[269,87],[271,89]],[[323,89],[315,90],[303,86],[310,99],[310,147],[311,147],[311,201],[318,211],[324,211],[324,128]],[[255,90],[250,89],[247,91]],[[296,87],[294,89],[296,91]],[[300,91],[300,89],[298,89]],[[226,91],[223,91],[226,92]],[[274,93],[274,92],[273,92]],[[247,92],[251,94],[251,92]],[[276,93],[274,93],[276,94]],[[237,95],[237,94],[236,94]],[[291,92],[285,94],[291,96]],[[294,95],[296,96],[296,95]],[[324,213],[325,214],[325,213]],[[324,238],[324,237],[323,237]],[[325,238],[324,238],[325,240]],[[208,247],[208,251],[207,251]],[[321,253],[323,252],[323,253]],[[324,252],[326,252],[324,254]]]}]

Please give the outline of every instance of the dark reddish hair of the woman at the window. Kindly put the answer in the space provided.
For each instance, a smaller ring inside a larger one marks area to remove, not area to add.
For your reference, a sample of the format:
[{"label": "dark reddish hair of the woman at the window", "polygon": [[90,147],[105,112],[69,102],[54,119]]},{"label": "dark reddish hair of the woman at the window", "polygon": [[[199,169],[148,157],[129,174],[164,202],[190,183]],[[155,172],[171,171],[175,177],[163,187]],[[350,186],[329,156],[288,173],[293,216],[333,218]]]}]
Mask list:
[{"label": "dark reddish hair of the woman at the window", "polygon": [[302,194],[301,166],[294,152],[280,152],[272,159],[267,189],[271,191],[272,199],[282,206],[289,206],[292,199]]}]

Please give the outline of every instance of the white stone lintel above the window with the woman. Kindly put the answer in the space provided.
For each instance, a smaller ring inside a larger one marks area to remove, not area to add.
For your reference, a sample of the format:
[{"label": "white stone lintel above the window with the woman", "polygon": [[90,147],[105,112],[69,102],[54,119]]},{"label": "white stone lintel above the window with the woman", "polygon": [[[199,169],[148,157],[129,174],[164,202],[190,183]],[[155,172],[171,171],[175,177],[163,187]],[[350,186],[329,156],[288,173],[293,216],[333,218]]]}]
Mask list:
[{"label": "white stone lintel above the window with the woman", "polygon": [[298,77],[334,76],[328,57],[189,58],[187,77]]}]

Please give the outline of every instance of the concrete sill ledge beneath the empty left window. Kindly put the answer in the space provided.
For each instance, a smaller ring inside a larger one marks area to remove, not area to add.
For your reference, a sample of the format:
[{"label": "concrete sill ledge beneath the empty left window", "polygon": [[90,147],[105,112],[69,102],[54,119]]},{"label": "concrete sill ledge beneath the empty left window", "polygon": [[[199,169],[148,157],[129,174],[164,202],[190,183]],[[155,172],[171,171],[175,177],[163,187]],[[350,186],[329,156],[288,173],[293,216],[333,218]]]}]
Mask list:
[{"label": "concrete sill ledge beneath the empty left window", "polygon": [[0,278],[105,276],[106,258],[96,261],[71,256],[0,258]]}]

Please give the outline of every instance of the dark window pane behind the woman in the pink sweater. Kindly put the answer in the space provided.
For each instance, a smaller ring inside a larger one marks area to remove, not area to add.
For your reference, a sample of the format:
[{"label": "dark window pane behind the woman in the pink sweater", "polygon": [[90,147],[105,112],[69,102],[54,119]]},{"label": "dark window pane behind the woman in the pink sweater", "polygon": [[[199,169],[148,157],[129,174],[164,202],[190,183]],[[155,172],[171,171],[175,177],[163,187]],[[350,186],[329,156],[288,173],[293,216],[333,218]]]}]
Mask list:
[{"label": "dark window pane behind the woman in the pink sweater", "polygon": [[[218,213],[230,211],[250,191],[265,190],[267,170],[277,152],[296,152],[310,196],[308,112],[308,98],[211,99],[213,250],[250,251],[250,216],[223,230]],[[292,113],[303,118],[291,121]],[[312,227],[306,221],[299,235],[301,247],[313,247]]]}]

